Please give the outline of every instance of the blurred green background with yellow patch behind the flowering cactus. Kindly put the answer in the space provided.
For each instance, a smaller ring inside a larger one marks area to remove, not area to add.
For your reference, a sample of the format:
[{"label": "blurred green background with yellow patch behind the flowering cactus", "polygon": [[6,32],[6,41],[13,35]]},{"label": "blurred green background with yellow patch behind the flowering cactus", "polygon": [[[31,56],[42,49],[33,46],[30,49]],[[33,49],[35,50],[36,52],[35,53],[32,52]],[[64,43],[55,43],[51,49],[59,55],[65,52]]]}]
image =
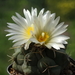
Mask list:
[{"label": "blurred green background with yellow patch behind the flowering cactus", "polygon": [[6,68],[11,62],[8,62],[10,58],[7,55],[14,52],[9,49],[12,41],[5,36],[7,22],[13,22],[11,16],[15,12],[23,15],[23,8],[30,10],[31,7],[36,7],[38,11],[45,8],[45,11],[55,12],[56,16],[61,16],[61,21],[69,25],[66,33],[70,36],[67,53],[75,59],[75,0],[0,0],[0,75],[8,75]]}]

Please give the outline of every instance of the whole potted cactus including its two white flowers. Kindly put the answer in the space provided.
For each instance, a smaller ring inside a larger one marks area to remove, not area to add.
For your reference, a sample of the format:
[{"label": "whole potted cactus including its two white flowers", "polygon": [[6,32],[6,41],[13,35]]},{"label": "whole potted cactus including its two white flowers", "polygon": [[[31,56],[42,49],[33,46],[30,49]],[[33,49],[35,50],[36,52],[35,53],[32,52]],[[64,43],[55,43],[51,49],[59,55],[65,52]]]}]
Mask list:
[{"label": "whole potted cactus including its two white flowers", "polygon": [[12,55],[12,67],[24,75],[60,75],[68,68],[70,61],[65,52],[68,36],[63,35],[68,25],[59,23],[55,13],[42,9],[37,14],[37,8],[23,9],[25,17],[16,13],[12,16],[15,23],[7,23],[9,32],[15,44]]}]

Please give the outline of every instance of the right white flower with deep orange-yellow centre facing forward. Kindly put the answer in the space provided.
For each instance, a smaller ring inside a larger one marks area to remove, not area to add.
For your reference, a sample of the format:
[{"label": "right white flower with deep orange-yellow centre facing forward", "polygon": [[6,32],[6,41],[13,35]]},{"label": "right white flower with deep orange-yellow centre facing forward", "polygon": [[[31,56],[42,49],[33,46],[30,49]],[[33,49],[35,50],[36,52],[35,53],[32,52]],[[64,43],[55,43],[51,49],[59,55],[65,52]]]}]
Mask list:
[{"label": "right white flower with deep orange-yellow centre facing forward", "polygon": [[34,32],[32,42],[36,44],[45,45],[47,48],[65,48],[64,44],[67,44],[68,36],[63,35],[67,30],[68,25],[64,25],[64,22],[58,24],[60,17],[55,19],[55,13],[51,14],[50,11],[44,13],[42,9],[38,16],[34,17]]}]

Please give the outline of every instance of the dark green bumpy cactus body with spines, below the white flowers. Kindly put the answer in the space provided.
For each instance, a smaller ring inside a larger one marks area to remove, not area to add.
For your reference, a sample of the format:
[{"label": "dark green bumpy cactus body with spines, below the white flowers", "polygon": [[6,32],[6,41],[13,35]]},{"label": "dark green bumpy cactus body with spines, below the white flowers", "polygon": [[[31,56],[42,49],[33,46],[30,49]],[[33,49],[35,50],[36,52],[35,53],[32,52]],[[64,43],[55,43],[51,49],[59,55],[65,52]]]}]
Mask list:
[{"label": "dark green bumpy cactus body with spines, below the white flowers", "polygon": [[60,75],[70,64],[65,49],[48,49],[34,43],[28,50],[24,47],[15,50],[12,57],[12,67],[24,75]]}]

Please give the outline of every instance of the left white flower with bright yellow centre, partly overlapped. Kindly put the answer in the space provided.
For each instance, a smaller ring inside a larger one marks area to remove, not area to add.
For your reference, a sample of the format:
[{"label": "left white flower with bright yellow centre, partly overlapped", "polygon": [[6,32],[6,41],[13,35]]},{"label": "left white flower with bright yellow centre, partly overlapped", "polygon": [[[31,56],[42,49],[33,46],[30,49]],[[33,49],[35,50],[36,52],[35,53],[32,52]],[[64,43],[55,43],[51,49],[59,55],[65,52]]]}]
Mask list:
[{"label": "left white flower with bright yellow centre, partly overlapped", "polygon": [[16,16],[12,16],[12,19],[15,23],[7,23],[8,28],[6,31],[9,32],[6,36],[11,36],[9,40],[16,42],[13,47],[21,46],[25,44],[25,49],[28,49],[30,38],[32,36],[31,31],[34,31],[33,27],[33,17],[37,16],[37,9],[29,10],[23,9],[24,17],[16,13]]}]

